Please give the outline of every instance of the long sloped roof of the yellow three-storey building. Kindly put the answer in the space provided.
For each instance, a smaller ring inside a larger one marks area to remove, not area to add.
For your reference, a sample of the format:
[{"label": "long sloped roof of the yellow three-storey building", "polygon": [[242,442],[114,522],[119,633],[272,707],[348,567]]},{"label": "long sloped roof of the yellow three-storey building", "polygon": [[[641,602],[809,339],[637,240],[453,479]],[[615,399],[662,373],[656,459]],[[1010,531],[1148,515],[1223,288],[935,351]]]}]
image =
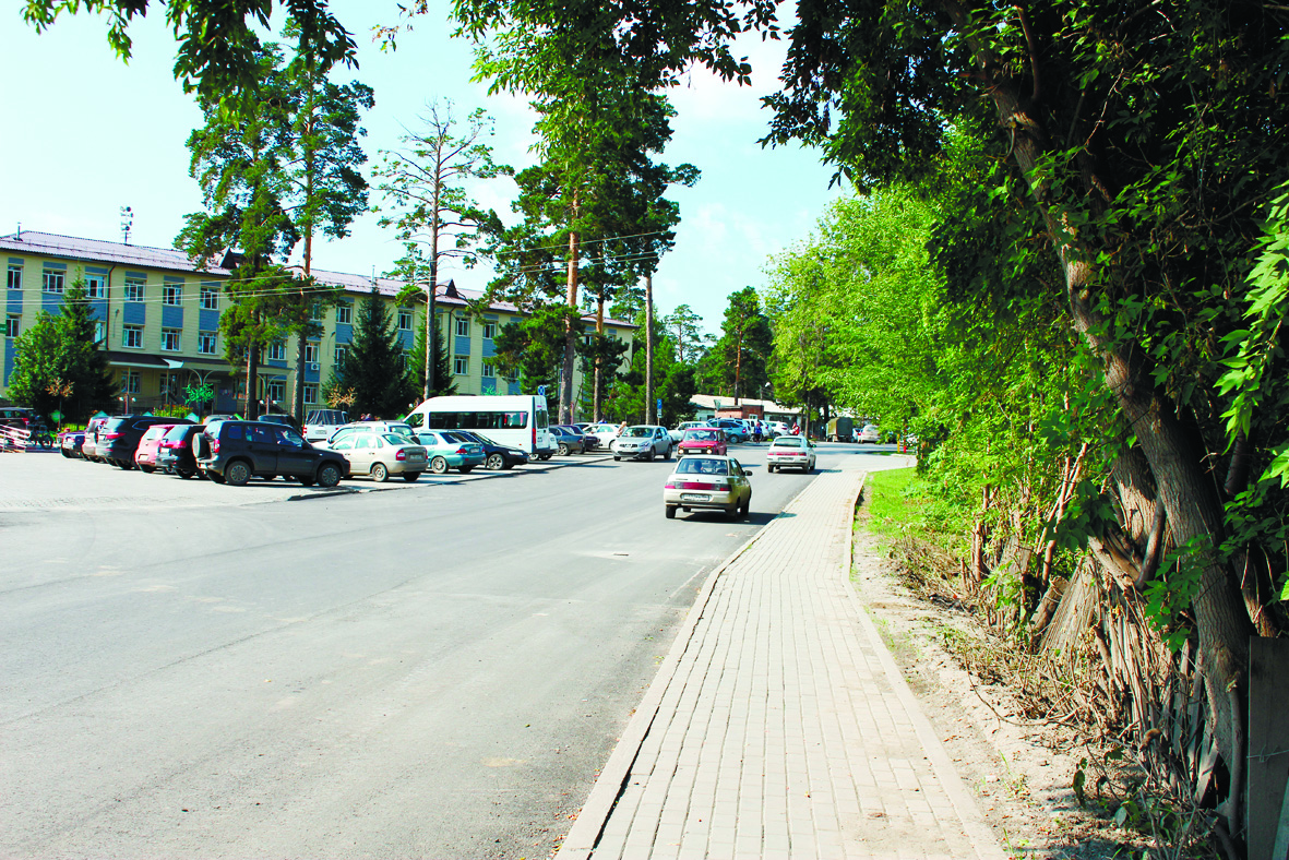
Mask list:
[{"label": "long sloped roof of the yellow three-storey building", "polygon": [[[210,273],[220,277],[232,275],[231,268],[215,266],[214,262],[206,268],[197,266],[188,259],[188,255],[177,248],[148,248],[146,245],[126,245],[125,242],[110,242],[101,239],[80,239],[76,236],[59,236],[58,233],[43,233],[32,230],[23,230],[8,236],[0,236],[0,251],[14,251],[22,254],[44,254],[59,259],[76,260],[82,263],[115,263],[121,266],[146,266],[170,272],[191,272],[193,275]],[[226,258],[220,258],[224,262]],[[293,272],[302,272],[299,266],[287,267]],[[329,272],[312,269],[313,277],[331,286],[340,286],[347,293],[370,293],[375,288],[380,295],[393,298],[406,285],[392,277],[371,277],[367,275],[351,275],[348,272]],[[477,302],[483,298],[482,290],[464,290],[454,281],[440,284],[436,290],[436,302],[450,307],[465,307],[467,302]],[[492,311],[519,315],[522,311],[509,302],[492,302],[489,306]],[[585,322],[593,322],[594,315],[583,317]],[[607,325],[624,329],[635,326],[623,320],[605,317]]]}]

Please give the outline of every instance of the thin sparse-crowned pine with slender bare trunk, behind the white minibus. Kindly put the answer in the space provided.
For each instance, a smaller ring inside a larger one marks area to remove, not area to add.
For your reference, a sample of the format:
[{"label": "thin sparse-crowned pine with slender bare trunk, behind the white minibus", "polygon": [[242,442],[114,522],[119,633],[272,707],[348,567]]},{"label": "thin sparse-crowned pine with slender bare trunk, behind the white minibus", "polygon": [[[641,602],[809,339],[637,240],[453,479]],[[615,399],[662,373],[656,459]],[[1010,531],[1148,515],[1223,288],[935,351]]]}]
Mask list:
[{"label": "thin sparse-crowned pine with slender bare trunk, behind the white minibus", "polygon": [[[403,135],[403,148],[384,152],[374,173],[388,213],[380,226],[393,227],[406,250],[392,275],[403,277],[411,289],[424,284],[423,327],[428,331],[434,320],[440,263],[459,258],[473,266],[472,248],[480,231],[498,222],[495,213],[474,202],[467,184],[513,171],[492,161],[492,147],[486,143],[492,137],[492,120],[482,108],[472,111],[463,125],[450,101],[431,102],[420,121],[423,130]],[[420,378],[427,398],[436,389],[437,342],[437,337],[424,334],[419,339],[425,349]]]}]

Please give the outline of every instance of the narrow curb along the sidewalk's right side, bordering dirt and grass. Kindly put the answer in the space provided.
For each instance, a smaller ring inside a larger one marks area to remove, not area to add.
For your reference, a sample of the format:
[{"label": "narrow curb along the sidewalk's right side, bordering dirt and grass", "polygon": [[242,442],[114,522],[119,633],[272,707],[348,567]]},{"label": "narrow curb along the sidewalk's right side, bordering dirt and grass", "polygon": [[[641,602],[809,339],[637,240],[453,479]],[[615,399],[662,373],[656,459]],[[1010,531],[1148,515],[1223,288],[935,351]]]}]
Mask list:
[{"label": "narrow curb along the sidewalk's right side, bordering dirt and grass", "polygon": [[[852,513],[858,505],[860,493],[864,491],[867,476],[869,473],[865,472],[864,478],[860,481],[860,486],[855,489],[855,495],[851,498]],[[1007,860],[1007,854],[1004,854],[1003,846],[998,841],[998,836],[985,821],[985,816],[981,815],[976,801],[967,792],[967,787],[963,785],[958,768],[954,767],[953,761],[949,758],[949,752],[945,749],[944,744],[940,743],[940,734],[936,732],[927,714],[922,712],[922,705],[918,703],[916,696],[913,695],[913,690],[909,687],[909,682],[905,679],[904,673],[900,672],[900,667],[896,664],[895,658],[891,656],[891,650],[887,649],[886,642],[882,641],[882,634],[878,632],[877,624],[873,623],[873,618],[869,615],[867,607],[855,591],[855,580],[851,578],[853,570],[855,520],[852,518],[849,527],[846,530],[846,592],[849,594],[851,601],[855,602],[855,607],[858,610],[857,614],[860,616],[860,625],[864,628],[869,641],[873,643],[873,650],[877,652],[878,660],[882,663],[882,668],[886,670],[887,678],[889,678],[891,686],[895,689],[896,696],[900,699],[900,704],[904,705],[905,712],[909,714],[909,719],[913,722],[914,732],[918,735],[918,740],[922,743],[922,748],[927,753],[927,758],[931,761],[931,767],[936,771],[936,777],[940,779],[940,784],[944,787],[945,794],[949,796],[949,802],[954,805],[954,811],[958,812],[958,819],[962,821],[963,830],[965,830],[967,836],[971,838],[972,846],[976,848],[976,856],[980,860]]]}]

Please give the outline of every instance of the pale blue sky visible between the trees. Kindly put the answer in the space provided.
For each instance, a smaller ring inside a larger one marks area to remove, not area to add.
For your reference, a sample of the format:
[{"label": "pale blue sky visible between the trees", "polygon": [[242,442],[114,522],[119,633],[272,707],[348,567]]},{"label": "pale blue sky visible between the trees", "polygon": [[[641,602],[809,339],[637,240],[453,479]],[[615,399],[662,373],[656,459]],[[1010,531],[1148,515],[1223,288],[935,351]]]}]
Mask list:
[{"label": "pale blue sky visible between the trees", "polygon": [[[0,27],[0,80],[6,81],[0,233],[21,222],[24,230],[120,240],[120,208],[128,205],[134,210],[133,244],[170,246],[183,215],[201,208],[183,146],[201,117],[173,77],[174,37],[161,4],[153,6],[153,14],[130,30],[129,64],[108,48],[103,18],[63,15],[36,35],[10,8]],[[331,9],[358,43],[360,68],[339,70],[336,77],[352,76],[375,89],[375,107],[363,121],[369,169],[378,150],[396,148],[405,128],[415,128],[418,112],[434,98],[452,99],[461,116],[483,107],[496,120],[496,160],[517,169],[532,164],[526,102],[489,97],[485,84],[470,83],[469,45],[449,37],[445,19],[412,19],[397,50],[382,52],[371,41],[371,27],[398,22],[393,0],[335,0]],[[654,277],[655,300],[659,315],[690,304],[709,331],[719,330],[726,297],[748,285],[759,289],[768,257],[806,239],[839,193],[829,188],[831,170],[817,152],[763,150],[757,143],[768,121],[758,99],[775,84],[784,45],[751,37],[740,48],[753,63],[753,86],[693,70],[672,93],[678,116],[663,156],[668,164],[696,165],[703,178],[693,188],[668,195],[679,202],[682,222],[674,249]],[[490,181],[473,192],[513,220],[512,182]],[[349,237],[316,245],[315,266],[383,273],[400,250],[367,214]],[[482,289],[489,280],[483,267],[447,275],[469,289]]]}]

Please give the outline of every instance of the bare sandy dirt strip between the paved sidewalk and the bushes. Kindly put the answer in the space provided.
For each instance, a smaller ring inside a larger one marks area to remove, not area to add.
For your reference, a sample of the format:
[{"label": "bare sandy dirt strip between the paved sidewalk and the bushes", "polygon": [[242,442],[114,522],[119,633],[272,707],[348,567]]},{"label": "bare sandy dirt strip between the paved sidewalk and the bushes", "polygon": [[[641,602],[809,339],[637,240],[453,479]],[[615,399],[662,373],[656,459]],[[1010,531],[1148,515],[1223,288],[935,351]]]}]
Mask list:
[{"label": "bare sandy dirt strip between the paved sidewalk and the bushes", "polygon": [[860,518],[856,592],[1003,848],[1042,860],[1127,856],[1123,832],[1075,799],[1075,771],[1089,750],[1072,744],[1079,739],[1067,727],[1014,716],[1005,687],[982,685],[958,665],[944,647],[944,630],[977,634],[973,619],[905,589],[862,529],[862,511]]}]

